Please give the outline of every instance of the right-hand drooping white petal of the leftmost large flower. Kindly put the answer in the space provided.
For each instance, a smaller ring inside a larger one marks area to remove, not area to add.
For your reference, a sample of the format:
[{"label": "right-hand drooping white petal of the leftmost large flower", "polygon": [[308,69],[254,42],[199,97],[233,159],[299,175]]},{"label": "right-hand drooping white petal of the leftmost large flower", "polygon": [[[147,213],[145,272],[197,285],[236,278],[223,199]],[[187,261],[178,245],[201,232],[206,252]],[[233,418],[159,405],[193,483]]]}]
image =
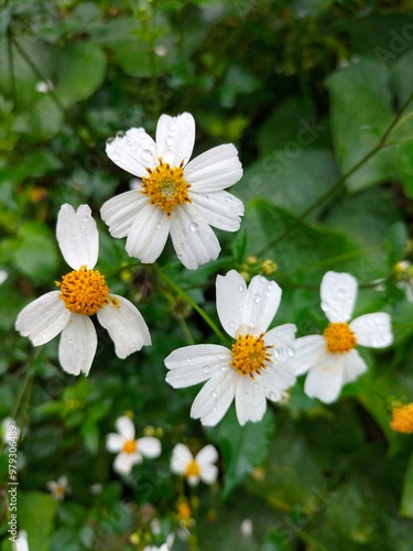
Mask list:
[{"label": "right-hand drooping white petal of the leftmost large flower", "polygon": [[137,306],[118,294],[111,294],[109,299],[115,299],[116,303],[110,302],[99,310],[97,317],[113,341],[118,358],[126,358],[150,345],[151,335]]}]

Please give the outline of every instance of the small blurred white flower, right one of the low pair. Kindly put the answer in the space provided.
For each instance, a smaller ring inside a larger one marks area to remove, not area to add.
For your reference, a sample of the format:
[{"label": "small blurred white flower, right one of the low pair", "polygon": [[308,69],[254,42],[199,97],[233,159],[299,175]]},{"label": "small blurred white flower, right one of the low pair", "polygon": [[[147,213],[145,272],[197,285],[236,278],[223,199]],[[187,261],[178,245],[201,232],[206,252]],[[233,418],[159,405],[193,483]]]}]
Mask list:
[{"label": "small blurred white flower, right one of the low pair", "polygon": [[218,476],[218,452],[211,444],[203,447],[195,457],[184,444],[176,444],[172,451],[171,471],[175,475],[184,476],[191,486],[214,484]]}]

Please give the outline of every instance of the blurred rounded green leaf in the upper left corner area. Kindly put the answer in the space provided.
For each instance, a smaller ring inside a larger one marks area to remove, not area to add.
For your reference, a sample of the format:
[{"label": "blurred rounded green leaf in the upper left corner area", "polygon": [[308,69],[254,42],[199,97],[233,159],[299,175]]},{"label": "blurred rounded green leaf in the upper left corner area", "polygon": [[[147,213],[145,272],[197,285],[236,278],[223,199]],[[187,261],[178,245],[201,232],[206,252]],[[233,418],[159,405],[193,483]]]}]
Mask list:
[{"label": "blurred rounded green leaf in the upper left corner area", "polygon": [[91,42],[73,42],[55,53],[55,93],[66,107],[89,98],[102,84],[106,56]]}]

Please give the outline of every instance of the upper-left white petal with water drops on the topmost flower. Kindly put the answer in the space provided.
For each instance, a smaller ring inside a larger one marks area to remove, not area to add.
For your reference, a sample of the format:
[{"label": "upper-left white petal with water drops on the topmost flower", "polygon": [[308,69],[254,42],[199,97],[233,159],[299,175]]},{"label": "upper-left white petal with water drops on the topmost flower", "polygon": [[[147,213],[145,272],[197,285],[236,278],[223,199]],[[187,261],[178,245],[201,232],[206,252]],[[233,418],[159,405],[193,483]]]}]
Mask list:
[{"label": "upper-left white petal with water drops on the topmost flower", "polygon": [[133,176],[148,176],[146,168],[157,165],[156,143],[143,128],[131,128],[123,136],[106,142],[106,154],[115,164]]}]

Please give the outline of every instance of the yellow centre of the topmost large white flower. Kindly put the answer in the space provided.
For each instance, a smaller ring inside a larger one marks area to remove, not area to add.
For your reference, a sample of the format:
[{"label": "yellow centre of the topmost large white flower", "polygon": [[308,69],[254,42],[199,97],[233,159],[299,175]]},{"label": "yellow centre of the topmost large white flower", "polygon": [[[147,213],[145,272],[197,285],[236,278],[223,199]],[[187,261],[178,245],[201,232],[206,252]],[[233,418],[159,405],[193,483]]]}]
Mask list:
[{"label": "yellow centre of the topmost large white flower", "polygon": [[171,218],[175,206],[192,203],[188,196],[191,184],[184,179],[183,162],[180,166],[171,166],[162,159],[159,161],[156,169],[146,169],[149,176],[142,177],[142,193],[148,195],[150,205],[159,206]]}]

